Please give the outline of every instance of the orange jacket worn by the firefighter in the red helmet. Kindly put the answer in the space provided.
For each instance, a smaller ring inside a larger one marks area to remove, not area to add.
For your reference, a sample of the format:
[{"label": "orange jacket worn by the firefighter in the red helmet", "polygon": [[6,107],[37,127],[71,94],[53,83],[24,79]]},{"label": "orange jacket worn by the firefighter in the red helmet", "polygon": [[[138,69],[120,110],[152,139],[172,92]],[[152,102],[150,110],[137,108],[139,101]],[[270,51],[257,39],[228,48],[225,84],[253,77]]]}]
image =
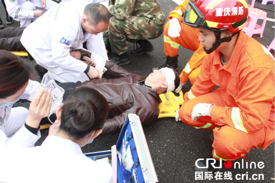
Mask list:
[{"label": "orange jacket worn by the firefighter in the red helmet", "polygon": [[232,100],[235,107],[212,106],[211,120],[216,125],[229,125],[250,133],[266,131],[264,149],[274,141],[274,57],[255,39],[240,31],[226,65],[220,52],[207,54],[195,83],[184,99],[208,93],[220,86],[223,100]]}]

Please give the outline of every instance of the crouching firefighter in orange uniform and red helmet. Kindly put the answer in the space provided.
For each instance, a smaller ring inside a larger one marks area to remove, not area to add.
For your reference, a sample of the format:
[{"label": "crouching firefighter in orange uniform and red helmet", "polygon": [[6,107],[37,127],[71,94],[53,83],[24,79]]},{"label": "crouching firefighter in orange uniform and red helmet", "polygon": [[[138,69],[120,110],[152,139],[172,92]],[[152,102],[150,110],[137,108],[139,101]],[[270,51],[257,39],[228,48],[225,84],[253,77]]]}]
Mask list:
[{"label": "crouching firefighter in orange uniform and red helmet", "polygon": [[183,14],[207,54],[178,114],[195,128],[213,128],[209,158],[232,160],[274,141],[274,57],[241,31],[247,17],[245,0],[190,0]]}]

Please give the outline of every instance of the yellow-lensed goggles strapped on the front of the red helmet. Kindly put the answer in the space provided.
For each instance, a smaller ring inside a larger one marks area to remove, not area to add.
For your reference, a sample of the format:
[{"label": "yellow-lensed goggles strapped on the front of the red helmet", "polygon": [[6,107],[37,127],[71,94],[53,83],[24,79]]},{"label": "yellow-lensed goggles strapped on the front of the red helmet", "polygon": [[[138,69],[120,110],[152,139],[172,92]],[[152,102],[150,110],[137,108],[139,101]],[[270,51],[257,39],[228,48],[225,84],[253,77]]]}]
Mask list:
[{"label": "yellow-lensed goggles strapped on the front of the red helmet", "polygon": [[202,26],[205,22],[204,15],[196,7],[195,2],[192,0],[189,0],[188,5],[186,6],[182,16],[182,21],[185,24],[194,28]]}]

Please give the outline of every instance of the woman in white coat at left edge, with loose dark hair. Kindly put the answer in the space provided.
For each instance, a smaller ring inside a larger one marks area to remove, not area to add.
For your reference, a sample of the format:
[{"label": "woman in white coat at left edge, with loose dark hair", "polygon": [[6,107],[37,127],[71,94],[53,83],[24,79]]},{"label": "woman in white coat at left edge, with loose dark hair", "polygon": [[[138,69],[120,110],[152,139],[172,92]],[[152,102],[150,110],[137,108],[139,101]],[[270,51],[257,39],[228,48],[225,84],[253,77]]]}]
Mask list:
[{"label": "woman in white coat at left edge, with loose dark hair", "polygon": [[11,108],[20,98],[30,100],[30,94],[39,89],[39,82],[29,80],[29,69],[19,59],[11,52],[0,50],[0,146],[30,147],[40,137],[38,126],[42,117],[33,128],[26,121],[28,109]]}]

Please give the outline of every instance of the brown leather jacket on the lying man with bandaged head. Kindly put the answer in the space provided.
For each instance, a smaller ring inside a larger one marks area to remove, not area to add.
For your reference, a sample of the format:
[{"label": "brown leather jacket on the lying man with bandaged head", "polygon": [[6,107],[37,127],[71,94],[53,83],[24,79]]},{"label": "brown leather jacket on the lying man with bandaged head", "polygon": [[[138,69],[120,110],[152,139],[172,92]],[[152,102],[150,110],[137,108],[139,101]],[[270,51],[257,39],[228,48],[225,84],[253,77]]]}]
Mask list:
[{"label": "brown leather jacket on the lying man with bandaged head", "polygon": [[154,122],[161,102],[156,90],[136,85],[135,83],[145,80],[141,75],[109,61],[106,61],[105,67],[108,69],[105,73],[111,79],[92,79],[77,86],[96,89],[108,102],[109,113],[101,135],[120,132],[127,113],[136,113],[142,125]]}]

